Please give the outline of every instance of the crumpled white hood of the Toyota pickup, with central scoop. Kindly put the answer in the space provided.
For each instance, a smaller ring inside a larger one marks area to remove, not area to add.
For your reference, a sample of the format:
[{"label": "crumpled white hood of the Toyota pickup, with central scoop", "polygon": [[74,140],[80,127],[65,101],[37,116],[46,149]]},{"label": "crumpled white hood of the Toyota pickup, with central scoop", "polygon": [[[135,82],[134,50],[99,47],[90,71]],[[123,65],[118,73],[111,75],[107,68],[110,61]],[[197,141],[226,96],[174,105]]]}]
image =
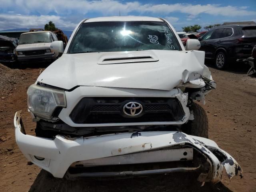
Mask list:
[{"label": "crumpled white hood of the Toyota pickup, with central scoop", "polygon": [[38,82],[68,90],[75,86],[172,90],[182,84],[184,74],[202,75],[204,68],[202,51],[63,54],[40,74]]}]

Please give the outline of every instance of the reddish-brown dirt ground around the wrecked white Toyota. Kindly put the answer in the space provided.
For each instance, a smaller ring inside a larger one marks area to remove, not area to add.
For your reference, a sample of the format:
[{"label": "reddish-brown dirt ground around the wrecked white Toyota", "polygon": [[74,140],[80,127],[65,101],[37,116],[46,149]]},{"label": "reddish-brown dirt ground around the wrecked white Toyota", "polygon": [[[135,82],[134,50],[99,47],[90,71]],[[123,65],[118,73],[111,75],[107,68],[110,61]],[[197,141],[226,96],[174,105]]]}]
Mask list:
[{"label": "reddish-brown dirt ground around the wrecked white Toyota", "polygon": [[[210,65],[211,66],[211,65]],[[209,120],[209,137],[230,153],[244,171],[244,178],[235,177],[211,185],[200,184],[193,174],[170,174],[126,180],[76,180],[50,177],[34,164],[28,165],[15,142],[14,113],[23,110],[23,122],[28,134],[34,134],[26,108],[26,90],[36,81],[41,64],[22,70],[0,64],[0,191],[168,191],[168,192],[255,192],[256,191],[256,77],[247,76],[248,67],[230,71],[210,68],[217,89],[206,96],[204,109]],[[8,78],[8,80],[6,80]]]}]

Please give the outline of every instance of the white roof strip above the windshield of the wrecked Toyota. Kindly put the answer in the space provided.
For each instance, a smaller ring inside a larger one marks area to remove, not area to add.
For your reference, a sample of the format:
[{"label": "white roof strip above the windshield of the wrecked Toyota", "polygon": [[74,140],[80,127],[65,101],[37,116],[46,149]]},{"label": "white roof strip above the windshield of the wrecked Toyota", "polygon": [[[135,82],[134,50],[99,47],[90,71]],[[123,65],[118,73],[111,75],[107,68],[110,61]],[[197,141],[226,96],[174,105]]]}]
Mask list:
[{"label": "white roof strip above the windshield of the wrecked Toyota", "polygon": [[160,18],[156,17],[139,17],[139,16],[112,16],[112,17],[96,17],[96,18],[89,18],[84,21],[87,22],[101,22],[101,21],[158,21],[164,22]]}]

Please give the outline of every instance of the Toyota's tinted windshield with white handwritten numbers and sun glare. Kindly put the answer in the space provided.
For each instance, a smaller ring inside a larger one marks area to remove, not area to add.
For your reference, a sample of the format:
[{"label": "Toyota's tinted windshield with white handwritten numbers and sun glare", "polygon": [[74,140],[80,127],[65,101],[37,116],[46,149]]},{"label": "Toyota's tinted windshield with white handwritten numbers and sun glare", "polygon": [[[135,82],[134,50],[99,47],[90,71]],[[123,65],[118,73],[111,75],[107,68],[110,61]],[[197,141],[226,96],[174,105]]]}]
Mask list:
[{"label": "Toyota's tinted windshield with white handwritten numbers and sun glare", "polygon": [[69,53],[180,50],[165,22],[88,22],[74,36]]}]

